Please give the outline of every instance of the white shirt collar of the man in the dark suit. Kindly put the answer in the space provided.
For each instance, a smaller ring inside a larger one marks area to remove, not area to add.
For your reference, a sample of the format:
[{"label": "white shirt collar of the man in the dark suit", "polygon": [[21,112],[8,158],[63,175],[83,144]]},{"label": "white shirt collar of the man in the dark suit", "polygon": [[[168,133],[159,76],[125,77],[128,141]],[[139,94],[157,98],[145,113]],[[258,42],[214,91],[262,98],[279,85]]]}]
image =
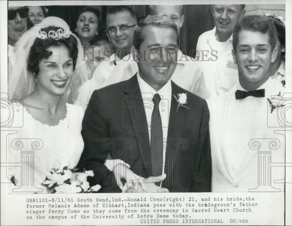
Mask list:
[{"label": "white shirt collar of the man in the dark suit", "polygon": [[168,99],[171,97],[171,80],[168,80],[161,89],[156,91],[147,82],[145,82],[137,73],[138,84],[141,90],[142,98],[153,98],[154,94],[158,93],[161,99]]}]

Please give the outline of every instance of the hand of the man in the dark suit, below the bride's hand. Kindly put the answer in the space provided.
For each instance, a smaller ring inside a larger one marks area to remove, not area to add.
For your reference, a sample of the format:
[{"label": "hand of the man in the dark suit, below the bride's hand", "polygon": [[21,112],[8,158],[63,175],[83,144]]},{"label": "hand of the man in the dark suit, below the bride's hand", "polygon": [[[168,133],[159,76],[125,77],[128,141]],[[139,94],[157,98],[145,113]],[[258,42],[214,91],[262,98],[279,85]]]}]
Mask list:
[{"label": "hand of the man in the dark suit, below the bride's hand", "polygon": [[143,180],[143,183],[145,185],[145,189],[142,190],[141,186],[138,186],[137,190],[134,190],[132,188],[127,188],[124,190],[124,192],[169,192],[167,188],[161,188],[155,185],[157,182],[161,182],[166,178],[166,174],[162,174],[157,177],[147,177]]}]

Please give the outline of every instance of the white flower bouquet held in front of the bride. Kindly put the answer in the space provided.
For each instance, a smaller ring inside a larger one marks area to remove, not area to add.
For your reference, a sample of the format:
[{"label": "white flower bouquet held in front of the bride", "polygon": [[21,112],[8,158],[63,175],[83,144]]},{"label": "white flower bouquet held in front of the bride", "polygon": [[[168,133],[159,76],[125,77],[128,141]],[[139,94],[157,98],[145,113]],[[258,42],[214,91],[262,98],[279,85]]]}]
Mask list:
[{"label": "white flower bouquet held in front of the bride", "polygon": [[99,184],[90,187],[87,177],[93,177],[93,171],[77,172],[77,168],[62,170],[47,169],[46,179],[42,183],[47,186],[50,193],[89,193],[97,192]]}]

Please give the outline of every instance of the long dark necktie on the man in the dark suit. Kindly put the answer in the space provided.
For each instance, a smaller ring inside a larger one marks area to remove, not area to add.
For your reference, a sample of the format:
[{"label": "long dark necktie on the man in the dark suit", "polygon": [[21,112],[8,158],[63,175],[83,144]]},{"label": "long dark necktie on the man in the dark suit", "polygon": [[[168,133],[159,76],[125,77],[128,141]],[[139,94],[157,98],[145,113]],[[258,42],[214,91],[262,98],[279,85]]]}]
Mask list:
[{"label": "long dark necktie on the man in the dark suit", "polygon": [[152,153],[152,176],[162,174],[163,145],[162,123],[159,113],[159,94],[155,94],[152,101],[154,108],[151,115],[150,148]]}]

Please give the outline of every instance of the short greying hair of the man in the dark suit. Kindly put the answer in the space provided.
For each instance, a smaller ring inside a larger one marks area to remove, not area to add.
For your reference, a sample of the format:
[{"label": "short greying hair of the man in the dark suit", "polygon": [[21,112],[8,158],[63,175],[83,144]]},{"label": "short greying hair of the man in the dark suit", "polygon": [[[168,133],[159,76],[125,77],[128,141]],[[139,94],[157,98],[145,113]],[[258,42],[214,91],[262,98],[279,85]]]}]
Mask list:
[{"label": "short greying hair of the man in the dark suit", "polygon": [[138,23],[138,26],[136,27],[133,34],[133,46],[135,46],[137,50],[140,49],[140,45],[144,40],[143,29],[147,25],[173,28],[176,33],[177,44],[179,44],[178,28],[171,19],[167,18],[166,16],[148,15],[144,20],[141,20],[140,23]]}]

